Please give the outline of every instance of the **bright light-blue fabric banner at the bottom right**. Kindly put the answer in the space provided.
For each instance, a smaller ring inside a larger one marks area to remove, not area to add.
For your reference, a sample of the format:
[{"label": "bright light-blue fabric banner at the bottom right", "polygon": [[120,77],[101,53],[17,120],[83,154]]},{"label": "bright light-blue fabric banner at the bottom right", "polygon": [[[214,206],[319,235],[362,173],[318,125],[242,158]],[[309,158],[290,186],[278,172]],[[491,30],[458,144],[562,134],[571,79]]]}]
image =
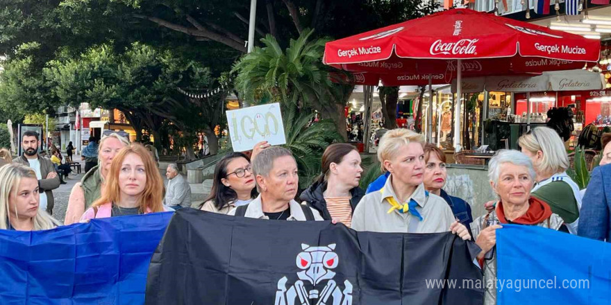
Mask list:
[{"label": "bright light-blue fabric banner at the bottom right", "polygon": [[610,304],[609,243],[503,225],[496,250],[498,305]]}]

